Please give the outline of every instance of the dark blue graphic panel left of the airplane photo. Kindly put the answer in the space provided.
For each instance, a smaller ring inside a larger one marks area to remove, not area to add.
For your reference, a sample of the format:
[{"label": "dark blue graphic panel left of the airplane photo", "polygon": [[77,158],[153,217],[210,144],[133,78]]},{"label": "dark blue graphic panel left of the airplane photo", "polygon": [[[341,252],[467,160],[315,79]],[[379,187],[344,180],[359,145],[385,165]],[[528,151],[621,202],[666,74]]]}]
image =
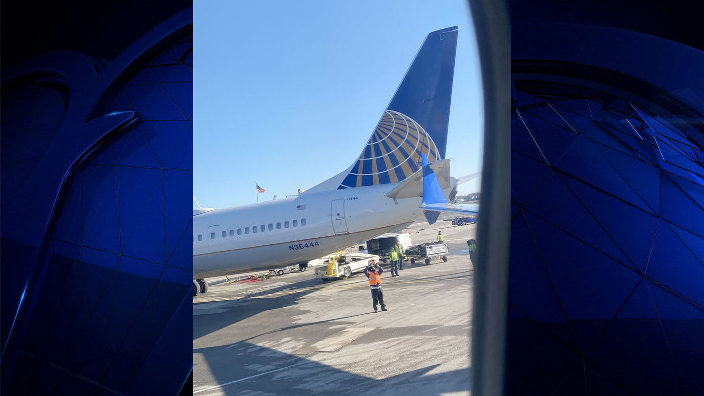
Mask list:
[{"label": "dark blue graphic panel left of the airplane photo", "polygon": [[2,393],[190,393],[191,1],[1,15]]}]

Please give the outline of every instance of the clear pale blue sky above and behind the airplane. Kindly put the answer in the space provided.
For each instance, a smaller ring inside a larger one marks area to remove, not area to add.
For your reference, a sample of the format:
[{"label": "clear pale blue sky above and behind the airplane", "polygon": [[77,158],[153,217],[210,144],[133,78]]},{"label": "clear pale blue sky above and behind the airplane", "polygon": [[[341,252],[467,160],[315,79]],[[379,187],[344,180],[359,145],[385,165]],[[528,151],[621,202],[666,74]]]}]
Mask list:
[{"label": "clear pale blue sky above and behind the airplane", "polygon": [[[484,111],[466,1],[196,1],[196,199],[254,203],[255,183],[259,201],[284,198],[345,170],[425,36],[453,25],[446,158],[461,177],[481,169]],[[459,191],[479,191],[479,179]]]}]

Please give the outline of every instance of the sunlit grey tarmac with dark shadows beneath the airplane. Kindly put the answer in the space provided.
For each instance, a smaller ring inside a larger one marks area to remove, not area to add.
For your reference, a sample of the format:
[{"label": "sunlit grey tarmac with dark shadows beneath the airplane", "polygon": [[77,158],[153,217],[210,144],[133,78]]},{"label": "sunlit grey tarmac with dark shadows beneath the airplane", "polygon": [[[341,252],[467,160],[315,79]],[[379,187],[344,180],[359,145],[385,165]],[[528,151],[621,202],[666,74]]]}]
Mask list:
[{"label": "sunlit grey tarmac with dark shadows beneath the airplane", "polygon": [[469,395],[477,225],[453,217],[406,229],[413,244],[441,230],[450,253],[394,278],[384,264],[387,312],[374,313],[364,274],[208,279],[193,305],[194,395]]}]

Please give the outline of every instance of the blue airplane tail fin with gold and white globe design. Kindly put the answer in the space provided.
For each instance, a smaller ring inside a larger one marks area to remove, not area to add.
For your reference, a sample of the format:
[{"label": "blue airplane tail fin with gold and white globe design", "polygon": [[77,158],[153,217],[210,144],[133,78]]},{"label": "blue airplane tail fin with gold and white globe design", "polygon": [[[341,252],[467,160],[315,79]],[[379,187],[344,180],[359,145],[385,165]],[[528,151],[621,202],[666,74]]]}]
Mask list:
[{"label": "blue airplane tail fin with gold and white globe design", "polygon": [[456,26],[427,35],[358,160],[308,191],[398,183],[421,153],[445,157],[457,35]]}]

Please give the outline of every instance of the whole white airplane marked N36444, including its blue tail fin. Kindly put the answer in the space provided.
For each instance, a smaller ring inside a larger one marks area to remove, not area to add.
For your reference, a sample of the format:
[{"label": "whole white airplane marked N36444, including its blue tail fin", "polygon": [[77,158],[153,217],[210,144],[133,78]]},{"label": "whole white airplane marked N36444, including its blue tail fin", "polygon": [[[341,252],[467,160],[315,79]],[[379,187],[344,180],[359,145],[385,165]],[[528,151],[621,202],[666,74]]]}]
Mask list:
[{"label": "whole white airplane marked N36444, including its blue tail fin", "polygon": [[[425,179],[421,158],[434,163],[442,175],[435,183],[448,196],[457,181],[443,159],[457,34],[453,26],[427,35],[359,157],[346,170],[295,198],[196,211],[194,279],[303,264],[405,228],[424,212],[419,209]],[[434,190],[434,197],[441,195]],[[426,205],[429,210],[439,203],[432,204]],[[206,293],[207,286],[194,282],[194,293]]]}]

